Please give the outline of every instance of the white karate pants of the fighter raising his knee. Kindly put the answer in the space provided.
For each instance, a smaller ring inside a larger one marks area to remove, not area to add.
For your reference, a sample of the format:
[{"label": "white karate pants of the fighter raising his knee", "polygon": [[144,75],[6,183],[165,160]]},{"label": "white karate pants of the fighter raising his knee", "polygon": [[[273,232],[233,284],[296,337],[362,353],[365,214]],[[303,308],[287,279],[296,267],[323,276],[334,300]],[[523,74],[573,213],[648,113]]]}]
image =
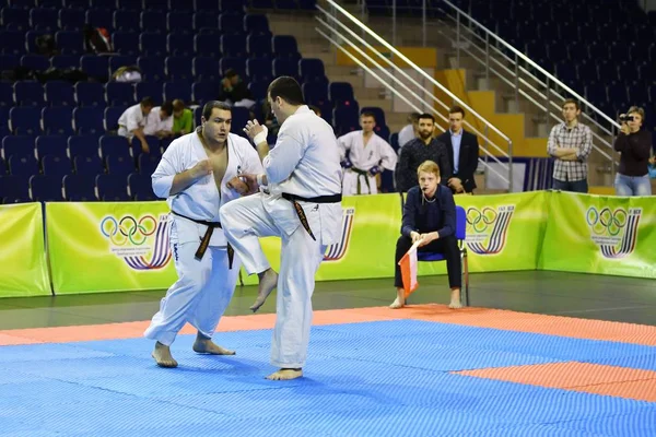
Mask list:
[{"label": "white karate pants of the fighter raising his knee", "polygon": [[[319,211],[308,206],[314,205],[312,203],[300,202],[316,240],[302,225],[286,235],[266,210],[266,196],[257,193],[226,203],[220,210],[220,217],[235,257],[242,259],[248,274],[260,273],[270,267],[258,237],[281,237],[271,364],[280,368],[298,368],[305,365],[307,357],[315,274],[326,251],[326,246],[320,244]],[[293,211],[292,202],[284,199],[278,202],[288,202]]]}]

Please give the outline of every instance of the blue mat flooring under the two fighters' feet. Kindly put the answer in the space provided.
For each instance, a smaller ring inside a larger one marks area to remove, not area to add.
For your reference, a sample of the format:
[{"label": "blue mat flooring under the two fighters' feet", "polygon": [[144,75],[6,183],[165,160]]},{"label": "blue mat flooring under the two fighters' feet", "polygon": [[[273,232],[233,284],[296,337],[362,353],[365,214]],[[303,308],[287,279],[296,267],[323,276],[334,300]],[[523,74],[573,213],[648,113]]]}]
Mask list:
[{"label": "blue mat flooring under the two fighters' feet", "polygon": [[0,347],[0,436],[655,436],[656,403],[455,375],[578,361],[655,369],[656,347],[417,320],[313,328],[306,377],[268,381],[270,330]]}]

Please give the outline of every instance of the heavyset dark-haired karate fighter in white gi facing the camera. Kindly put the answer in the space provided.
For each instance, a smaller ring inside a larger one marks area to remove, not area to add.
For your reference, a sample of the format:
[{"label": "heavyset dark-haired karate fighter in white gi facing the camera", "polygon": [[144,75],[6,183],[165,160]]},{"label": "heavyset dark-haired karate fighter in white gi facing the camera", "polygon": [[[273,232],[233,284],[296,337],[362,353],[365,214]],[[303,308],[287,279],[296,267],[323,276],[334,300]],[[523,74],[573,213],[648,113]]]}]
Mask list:
[{"label": "heavyset dark-haired karate fighter in white gi facing the camera", "polygon": [[161,367],[177,366],[169,346],[186,322],[198,330],[194,351],[234,355],[211,341],[241,267],[223,235],[219,209],[247,192],[237,176],[261,173],[262,165],[248,140],[229,133],[230,106],[209,102],[201,120],[201,128],[171,143],[152,176],[153,191],[172,211],[169,240],[178,274],[144,332],[156,340],[153,358]]}]

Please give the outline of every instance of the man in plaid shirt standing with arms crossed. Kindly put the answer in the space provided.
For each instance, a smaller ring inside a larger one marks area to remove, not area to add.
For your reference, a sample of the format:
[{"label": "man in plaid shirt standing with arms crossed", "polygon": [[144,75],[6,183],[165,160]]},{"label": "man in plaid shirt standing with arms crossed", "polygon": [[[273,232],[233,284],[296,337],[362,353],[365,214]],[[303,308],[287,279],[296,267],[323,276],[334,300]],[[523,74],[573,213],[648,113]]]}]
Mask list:
[{"label": "man in plaid shirt standing with arms crossed", "polygon": [[578,122],[581,108],[572,98],[563,103],[563,121],[551,129],[547,153],[555,158],[553,189],[587,192],[587,157],[593,150],[593,132]]}]

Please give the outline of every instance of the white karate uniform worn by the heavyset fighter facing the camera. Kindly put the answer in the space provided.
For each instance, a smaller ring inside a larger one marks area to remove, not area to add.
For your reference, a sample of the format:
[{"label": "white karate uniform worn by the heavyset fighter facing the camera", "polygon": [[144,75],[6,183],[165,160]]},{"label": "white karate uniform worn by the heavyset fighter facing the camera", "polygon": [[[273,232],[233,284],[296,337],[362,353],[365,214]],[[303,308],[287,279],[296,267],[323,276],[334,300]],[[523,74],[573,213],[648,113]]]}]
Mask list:
[{"label": "white karate uniform worn by the heavyset fighter facing the camera", "polygon": [[234,257],[232,269],[229,268],[227,241],[223,229],[219,227],[213,229],[202,258],[196,258],[208,226],[192,220],[219,222],[221,205],[241,196],[227,182],[241,173],[262,172],[259,156],[250,142],[230,133],[226,139],[227,163],[223,162],[225,174],[220,190],[214,175],[218,169],[221,172],[223,168],[213,166],[213,174],[206,174],[189,187],[171,196],[176,175],[208,160],[203,141],[201,128],[173,141],[152,175],[155,194],[167,198],[172,210],[169,239],[178,280],[162,299],[160,311],[153,317],[144,335],[165,346],[173,343],[186,322],[194,326],[199,335],[208,339],[212,336],[232,298],[239,271],[237,256]]}]

